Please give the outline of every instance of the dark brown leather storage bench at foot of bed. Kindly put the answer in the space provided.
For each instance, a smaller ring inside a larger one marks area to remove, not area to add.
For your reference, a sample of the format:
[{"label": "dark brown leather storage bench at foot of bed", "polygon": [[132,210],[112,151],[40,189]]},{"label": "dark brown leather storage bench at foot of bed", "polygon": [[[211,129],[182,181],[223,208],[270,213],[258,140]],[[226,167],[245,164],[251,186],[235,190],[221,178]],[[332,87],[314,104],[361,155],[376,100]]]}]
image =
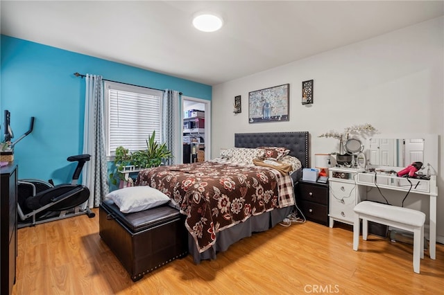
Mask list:
[{"label": "dark brown leather storage bench at foot of bed", "polygon": [[168,205],[121,213],[105,200],[99,208],[99,234],[133,281],[188,254],[185,215]]}]

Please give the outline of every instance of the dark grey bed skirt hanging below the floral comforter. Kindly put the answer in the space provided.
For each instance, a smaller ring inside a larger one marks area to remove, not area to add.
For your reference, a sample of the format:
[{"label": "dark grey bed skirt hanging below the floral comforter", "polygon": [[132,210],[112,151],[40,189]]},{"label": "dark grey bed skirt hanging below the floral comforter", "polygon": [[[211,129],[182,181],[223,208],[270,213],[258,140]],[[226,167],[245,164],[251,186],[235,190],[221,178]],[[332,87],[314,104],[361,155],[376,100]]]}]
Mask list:
[{"label": "dark grey bed skirt hanging below the floral comforter", "polygon": [[199,264],[201,260],[216,259],[216,253],[227,251],[228,247],[235,242],[250,237],[253,233],[267,231],[279,222],[282,222],[293,209],[293,206],[275,209],[248,218],[245,222],[241,222],[223,231],[216,233],[216,243],[210,249],[199,253],[196,242],[191,234],[188,234],[188,250],[193,256],[194,263]]}]

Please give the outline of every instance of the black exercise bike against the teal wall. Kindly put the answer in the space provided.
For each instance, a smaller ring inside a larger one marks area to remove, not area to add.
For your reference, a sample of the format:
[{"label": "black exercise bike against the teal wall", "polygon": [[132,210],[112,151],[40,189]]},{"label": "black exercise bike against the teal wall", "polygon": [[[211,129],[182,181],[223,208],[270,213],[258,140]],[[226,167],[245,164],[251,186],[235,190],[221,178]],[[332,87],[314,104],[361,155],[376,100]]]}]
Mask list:
[{"label": "black exercise bike against the teal wall", "polygon": [[[13,147],[25,136],[33,132],[34,117],[31,117],[29,130],[20,136],[17,141],[11,143]],[[10,112],[5,110],[5,138],[10,141],[14,137],[10,128]],[[77,184],[83,166],[91,156],[79,154],[68,157],[67,161],[77,162],[76,170],[71,184],[59,184],[54,186],[53,181],[42,181],[39,179],[19,179],[17,185],[17,227],[35,226],[44,222],[60,220],[67,217],[86,214],[89,218],[95,213],[89,210],[87,200],[89,189]]]}]

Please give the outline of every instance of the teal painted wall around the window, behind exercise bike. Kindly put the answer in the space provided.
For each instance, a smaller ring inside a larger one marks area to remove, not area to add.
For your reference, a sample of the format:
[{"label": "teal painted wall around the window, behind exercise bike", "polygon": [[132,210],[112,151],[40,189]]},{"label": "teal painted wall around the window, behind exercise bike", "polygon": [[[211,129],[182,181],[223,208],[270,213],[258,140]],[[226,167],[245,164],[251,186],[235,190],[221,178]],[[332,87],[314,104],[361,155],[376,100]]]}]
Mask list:
[{"label": "teal painted wall around the window, behind exercise bike", "polygon": [[[11,112],[16,140],[33,132],[15,146],[19,178],[53,179],[69,182],[74,164],[67,157],[83,148],[85,79],[75,72],[103,75],[103,78],[155,89],[175,89],[185,96],[211,100],[212,87],[134,66],[65,51],[1,35],[1,140],[4,110]],[[147,54],[146,58],[150,58]]]}]

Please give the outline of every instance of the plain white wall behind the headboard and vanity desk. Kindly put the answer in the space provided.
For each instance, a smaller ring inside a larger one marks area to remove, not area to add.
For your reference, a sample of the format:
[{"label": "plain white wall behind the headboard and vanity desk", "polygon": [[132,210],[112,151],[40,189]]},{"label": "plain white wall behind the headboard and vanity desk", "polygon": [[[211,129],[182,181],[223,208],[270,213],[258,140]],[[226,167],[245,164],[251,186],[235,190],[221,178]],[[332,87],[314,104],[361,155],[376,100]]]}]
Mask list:
[{"label": "plain white wall behind the headboard and vanity desk", "polygon": [[[301,42],[300,46],[304,46]],[[233,65],[235,66],[235,65]],[[302,81],[314,79],[314,104],[301,104]],[[213,87],[212,157],[234,145],[235,132],[309,131],[315,153],[337,152],[318,135],[370,123],[382,134],[438,134],[438,193],[444,193],[444,18],[380,35]],[[290,119],[248,123],[248,92],[290,84]],[[233,114],[234,96],[241,114]],[[444,236],[438,196],[438,235]]]}]

